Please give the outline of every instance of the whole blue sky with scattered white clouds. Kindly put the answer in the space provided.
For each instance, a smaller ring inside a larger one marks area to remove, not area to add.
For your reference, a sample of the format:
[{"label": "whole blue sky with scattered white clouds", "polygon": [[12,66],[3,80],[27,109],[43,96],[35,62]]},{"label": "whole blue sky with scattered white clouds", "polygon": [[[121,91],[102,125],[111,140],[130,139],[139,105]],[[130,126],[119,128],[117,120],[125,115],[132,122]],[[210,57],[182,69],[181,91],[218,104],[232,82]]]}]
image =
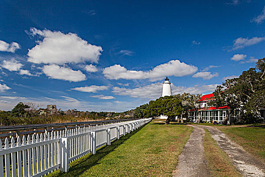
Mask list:
[{"label": "whole blue sky with scattered white clouds", "polygon": [[0,110],[121,112],[265,57],[265,1],[0,1]]}]

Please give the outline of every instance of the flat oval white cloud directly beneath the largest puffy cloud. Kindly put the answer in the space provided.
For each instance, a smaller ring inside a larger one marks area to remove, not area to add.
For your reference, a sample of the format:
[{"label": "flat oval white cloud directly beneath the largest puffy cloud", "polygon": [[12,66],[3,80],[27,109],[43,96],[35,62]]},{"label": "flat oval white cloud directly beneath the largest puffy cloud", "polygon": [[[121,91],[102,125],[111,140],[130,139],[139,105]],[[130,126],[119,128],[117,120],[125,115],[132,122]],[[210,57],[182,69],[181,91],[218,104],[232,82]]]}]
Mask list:
[{"label": "flat oval white cloud directly beneath the largest puffy cloud", "polygon": [[74,71],[71,68],[61,67],[55,64],[44,65],[42,71],[52,79],[67,80],[70,82],[78,82],[86,79],[85,74],[80,70]]}]

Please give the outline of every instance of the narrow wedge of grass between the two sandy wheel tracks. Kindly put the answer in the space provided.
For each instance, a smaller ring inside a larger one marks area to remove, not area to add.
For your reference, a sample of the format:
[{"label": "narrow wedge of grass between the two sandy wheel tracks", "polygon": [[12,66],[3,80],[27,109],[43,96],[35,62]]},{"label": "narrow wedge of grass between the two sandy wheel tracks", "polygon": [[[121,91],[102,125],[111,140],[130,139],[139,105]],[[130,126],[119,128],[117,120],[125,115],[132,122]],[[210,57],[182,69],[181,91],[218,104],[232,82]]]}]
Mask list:
[{"label": "narrow wedge of grass between the two sandy wheel tracks", "polygon": [[222,151],[216,141],[211,138],[207,129],[203,138],[204,156],[211,176],[242,176],[230,161],[228,155]]}]

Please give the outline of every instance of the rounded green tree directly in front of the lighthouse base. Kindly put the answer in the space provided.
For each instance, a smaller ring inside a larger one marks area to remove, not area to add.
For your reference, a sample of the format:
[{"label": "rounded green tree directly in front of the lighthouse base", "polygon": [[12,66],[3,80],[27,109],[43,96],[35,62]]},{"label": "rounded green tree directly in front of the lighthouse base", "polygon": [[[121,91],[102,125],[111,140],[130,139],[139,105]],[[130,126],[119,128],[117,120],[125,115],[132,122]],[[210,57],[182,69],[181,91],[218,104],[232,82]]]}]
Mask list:
[{"label": "rounded green tree directly in front of the lighthouse base", "polygon": [[170,121],[175,121],[175,117],[180,116],[181,112],[181,100],[174,96],[160,97],[155,101],[150,101],[146,108],[147,116],[167,115],[166,124],[169,124]]}]

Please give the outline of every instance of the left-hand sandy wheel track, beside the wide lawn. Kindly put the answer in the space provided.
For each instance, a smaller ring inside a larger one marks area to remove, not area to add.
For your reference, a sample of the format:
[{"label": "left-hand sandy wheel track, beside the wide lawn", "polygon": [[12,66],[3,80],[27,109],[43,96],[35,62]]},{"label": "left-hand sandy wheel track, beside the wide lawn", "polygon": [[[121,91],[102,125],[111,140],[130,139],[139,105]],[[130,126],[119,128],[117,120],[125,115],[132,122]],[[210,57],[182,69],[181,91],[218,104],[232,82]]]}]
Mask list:
[{"label": "left-hand sandy wheel track, beside the wide lawn", "polygon": [[193,131],[179,156],[179,163],[173,176],[209,176],[202,146],[205,131],[198,126],[189,126],[193,127]]}]

